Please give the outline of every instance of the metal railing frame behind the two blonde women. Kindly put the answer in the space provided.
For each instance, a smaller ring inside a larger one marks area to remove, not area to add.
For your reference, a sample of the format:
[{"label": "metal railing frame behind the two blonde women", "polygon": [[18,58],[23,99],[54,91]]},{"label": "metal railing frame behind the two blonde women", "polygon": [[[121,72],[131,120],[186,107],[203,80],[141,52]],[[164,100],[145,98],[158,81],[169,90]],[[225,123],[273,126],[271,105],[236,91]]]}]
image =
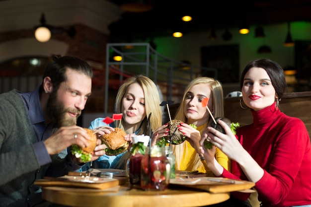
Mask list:
[{"label": "metal railing frame behind the two blonde women", "polygon": [[[129,47],[132,49],[125,49]],[[120,55],[122,60],[114,61],[112,58],[115,54]],[[202,71],[209,72],[210,76],[216,79],[218,77],[217,69],[193,66],[169,59],[157,53],[149,43],[108,43],[105,68],[105,114],[108,109],[109,71],[111,72],[112,69],[120,74],[119,82],[122,82],[127,74],[147,75],[165,89],[167,100],[172,99],[174,89],[183,89],[191,80],[201,76]]]}]

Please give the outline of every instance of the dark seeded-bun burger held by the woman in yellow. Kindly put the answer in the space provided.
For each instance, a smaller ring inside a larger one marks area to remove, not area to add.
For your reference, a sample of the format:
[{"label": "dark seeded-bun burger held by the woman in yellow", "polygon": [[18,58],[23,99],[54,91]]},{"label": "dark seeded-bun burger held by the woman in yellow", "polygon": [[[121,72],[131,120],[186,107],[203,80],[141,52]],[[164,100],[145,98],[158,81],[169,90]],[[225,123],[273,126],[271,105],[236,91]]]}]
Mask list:
[{"label": "dark seeded-bun burger held by the woman in yellow", "polygon": [[172,140],[171,144],[181,144],[186,140],[186,137],[178,130],[178,125],[182,121],[173,119],[171,122],[168,122],[167,129],[169,129],[169,135],[165,139],[169,142]]}]

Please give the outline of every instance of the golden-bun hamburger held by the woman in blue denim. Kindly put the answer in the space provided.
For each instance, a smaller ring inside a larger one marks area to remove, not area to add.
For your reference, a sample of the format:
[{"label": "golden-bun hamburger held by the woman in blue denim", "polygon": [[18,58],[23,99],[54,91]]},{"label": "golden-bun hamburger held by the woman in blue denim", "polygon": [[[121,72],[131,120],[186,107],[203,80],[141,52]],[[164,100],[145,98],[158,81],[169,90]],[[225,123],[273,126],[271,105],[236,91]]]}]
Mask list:
[{"label": "golden-bun hamburger held by the woman in blue denim", "polygon": [[105,149],[108,156],[117,155],[127,150],[129,141],[124,139],[125,132],[121,128],[114,128],[110,134],[101,135],[101,142],[106,144]]}]

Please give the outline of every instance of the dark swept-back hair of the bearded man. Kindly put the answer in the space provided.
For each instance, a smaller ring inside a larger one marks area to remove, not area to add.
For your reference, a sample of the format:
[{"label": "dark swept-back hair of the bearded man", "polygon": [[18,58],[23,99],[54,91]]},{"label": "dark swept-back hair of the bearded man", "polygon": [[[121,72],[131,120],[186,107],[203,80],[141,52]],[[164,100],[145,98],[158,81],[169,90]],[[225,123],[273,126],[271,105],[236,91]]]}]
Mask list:
[{"label": "dark swept-back hair of the bearded man", "polygon": [[68,68],[81,72],[90,78],[93,77],[93,69],[85,61],[77,57],[62,57],[53,54],[51,59],[53,61],[46,66],[42,79],[50,77],[55,90],[58,90],[60,84],[67,80],[66,71]]}]

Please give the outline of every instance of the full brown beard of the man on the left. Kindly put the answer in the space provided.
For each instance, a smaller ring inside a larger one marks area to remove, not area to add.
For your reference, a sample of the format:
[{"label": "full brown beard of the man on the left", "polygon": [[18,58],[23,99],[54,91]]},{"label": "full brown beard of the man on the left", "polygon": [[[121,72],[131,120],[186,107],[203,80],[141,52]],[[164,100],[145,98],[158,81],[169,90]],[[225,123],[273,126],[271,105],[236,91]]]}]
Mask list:
[{"label": "full brown beard of the man on the left", "polygon": [[[81,115],[81,110],[65,108],[64,104],[58,100],[56,91],[50,94],[47,112],[55,128],[77,125],[77,119]],[[68,112],[78,113],[78,115],[77,117],[70,117],[67,115]]]}]

